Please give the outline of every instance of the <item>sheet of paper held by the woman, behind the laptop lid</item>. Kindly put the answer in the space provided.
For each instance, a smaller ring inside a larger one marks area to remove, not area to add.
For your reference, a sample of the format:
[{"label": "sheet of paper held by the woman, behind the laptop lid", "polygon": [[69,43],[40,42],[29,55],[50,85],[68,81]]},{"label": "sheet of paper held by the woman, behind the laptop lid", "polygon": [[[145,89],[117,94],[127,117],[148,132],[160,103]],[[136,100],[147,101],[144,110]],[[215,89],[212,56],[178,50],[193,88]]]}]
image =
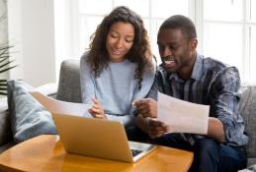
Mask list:
[{"label": "sheet of paper held by the woman, behind the laptop lid", "polygon": [[89,106],[83,103],[60,101],[38,91],[30,92],[52,114],[67,114],[91,117],[88,112]]}]

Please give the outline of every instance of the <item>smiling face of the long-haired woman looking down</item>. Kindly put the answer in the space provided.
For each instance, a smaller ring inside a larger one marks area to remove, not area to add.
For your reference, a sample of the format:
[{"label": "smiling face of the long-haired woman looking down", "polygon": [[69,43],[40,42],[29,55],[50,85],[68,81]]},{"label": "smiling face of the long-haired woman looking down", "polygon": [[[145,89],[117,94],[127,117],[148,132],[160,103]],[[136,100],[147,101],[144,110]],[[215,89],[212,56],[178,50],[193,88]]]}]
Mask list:
[{"label": "smiling face of the long-haired woman looking down", "polygon": [[113,24],[107,35],[106,48],[110,60],[114,63],[123,62],[133,45],[134,28],[131,24],[118,22]]}]

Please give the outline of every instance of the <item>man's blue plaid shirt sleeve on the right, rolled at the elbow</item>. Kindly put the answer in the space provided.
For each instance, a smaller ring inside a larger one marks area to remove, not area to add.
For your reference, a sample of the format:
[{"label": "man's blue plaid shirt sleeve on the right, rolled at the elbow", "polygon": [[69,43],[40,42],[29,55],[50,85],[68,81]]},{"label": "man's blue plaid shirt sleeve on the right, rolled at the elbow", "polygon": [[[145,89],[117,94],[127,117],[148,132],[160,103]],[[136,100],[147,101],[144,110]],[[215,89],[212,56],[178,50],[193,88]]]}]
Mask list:
[{"label": "man's blue plaid shirt sleeve on the right, rolled at the elbow", "polygon": [[243,134],[244,123],[239,114],[240,78],[234,67],[225,68],[215,76],[211,99],[211,115],[224,127],[226,143],[244,145],[248,142]]}]

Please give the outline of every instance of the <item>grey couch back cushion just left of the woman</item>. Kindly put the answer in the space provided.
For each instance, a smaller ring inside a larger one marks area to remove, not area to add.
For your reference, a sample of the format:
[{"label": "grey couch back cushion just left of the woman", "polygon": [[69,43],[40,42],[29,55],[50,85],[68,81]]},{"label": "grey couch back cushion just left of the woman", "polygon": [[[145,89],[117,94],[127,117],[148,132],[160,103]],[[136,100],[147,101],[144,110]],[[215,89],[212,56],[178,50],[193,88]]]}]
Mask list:
[{"label": "grey couch back cushion just left of the woman", "polygon": [[56,98],[62,101],[82,102],[79,60],[64,60],[60,66]]}]

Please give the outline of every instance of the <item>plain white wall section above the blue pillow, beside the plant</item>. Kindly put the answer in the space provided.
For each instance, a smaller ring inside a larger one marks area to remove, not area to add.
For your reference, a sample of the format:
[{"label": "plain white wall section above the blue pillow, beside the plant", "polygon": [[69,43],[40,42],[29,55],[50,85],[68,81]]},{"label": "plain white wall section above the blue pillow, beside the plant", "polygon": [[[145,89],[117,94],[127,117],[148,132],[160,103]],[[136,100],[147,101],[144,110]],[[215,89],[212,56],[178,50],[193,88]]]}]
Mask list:
[{"label": "plain white wall section above the blue pillow, beside the plant", "polygon": [[8,1],[9,41],[19,65],[11,79],[32,86],[56,82],[53,7],[54,0]]}]

